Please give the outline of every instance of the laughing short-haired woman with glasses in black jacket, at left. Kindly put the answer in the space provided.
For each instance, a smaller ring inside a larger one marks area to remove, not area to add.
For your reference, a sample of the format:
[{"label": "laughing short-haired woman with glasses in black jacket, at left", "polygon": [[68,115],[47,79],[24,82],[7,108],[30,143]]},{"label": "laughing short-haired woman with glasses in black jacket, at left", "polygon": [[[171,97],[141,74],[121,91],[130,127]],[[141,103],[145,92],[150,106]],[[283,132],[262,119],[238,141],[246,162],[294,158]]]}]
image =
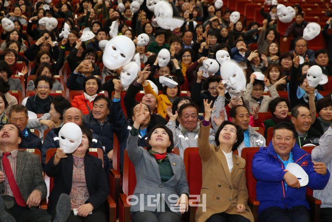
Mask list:
[{"label": "laughing short-haired woman with glasses in black jacket, at left", "polygon": [[27,99],[25,107],[31,112],[45,114],[50,112],[51,101],[53,97],[50,95],[53,87],[52,79],[45,75],[40,75],[35,79],[35,89],[37,94]]}]

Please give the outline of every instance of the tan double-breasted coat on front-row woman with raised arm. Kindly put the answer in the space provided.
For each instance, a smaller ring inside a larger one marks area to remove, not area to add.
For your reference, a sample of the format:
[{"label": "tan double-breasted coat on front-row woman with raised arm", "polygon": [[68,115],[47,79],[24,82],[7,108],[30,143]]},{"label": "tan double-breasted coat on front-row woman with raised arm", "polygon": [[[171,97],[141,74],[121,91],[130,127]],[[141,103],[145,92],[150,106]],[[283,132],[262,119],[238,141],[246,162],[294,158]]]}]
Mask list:
[{"label": "tan double-breasted coat on front-row woman with raised arm", "polygon": [[[245,160],[233,154],[233,169],[229,172],[227,160],[221,148],[209,144],[210,126],[201,123],[198,135],[199,154],[202,159],[202,189],[199,204],[202,204],[203,194],[206,194],[206,212],[202,207],[196,211],[196,222],[205,222],[212,215],[225,212],[242,215],[254,222],[253,214],[248,205],[248,190],[245,178]],[[236,205],[243,204],[244,213],[238,213]]]}]

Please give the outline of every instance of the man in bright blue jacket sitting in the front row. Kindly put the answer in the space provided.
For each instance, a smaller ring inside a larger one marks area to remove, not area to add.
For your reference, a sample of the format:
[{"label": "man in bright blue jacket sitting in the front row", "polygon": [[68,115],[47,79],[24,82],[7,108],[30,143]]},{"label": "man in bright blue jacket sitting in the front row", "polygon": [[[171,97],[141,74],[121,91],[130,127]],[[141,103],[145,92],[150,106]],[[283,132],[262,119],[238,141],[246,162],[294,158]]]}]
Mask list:
[{"label": "man in bright blue jacket sitting in the front row", "polygon": [[304,169],[311,189],[324,189],[329,181],[325,163],[312,162],[311,155],[295,143],[295,136],[290,123],[278,123],[269,147],[261,147],[252,160],[261,222],[310,222],[307,188],[300,187],[299,180],[285,169],[288,163]]}]

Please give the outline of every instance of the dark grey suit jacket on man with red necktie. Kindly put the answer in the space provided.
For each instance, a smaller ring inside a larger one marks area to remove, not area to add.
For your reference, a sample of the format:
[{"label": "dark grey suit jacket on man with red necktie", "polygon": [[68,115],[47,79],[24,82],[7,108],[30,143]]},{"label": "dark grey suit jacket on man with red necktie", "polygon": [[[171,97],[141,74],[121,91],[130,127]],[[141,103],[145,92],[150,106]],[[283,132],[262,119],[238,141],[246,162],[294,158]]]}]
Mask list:
[{"label": "dark grey suit jacket on man with red necktie", "polygon": [[[43,179],[42,164],[39,156],[27,151],[18,151],[16,160],[16,183],[27,202],[29,195],[34,190],[42,192],[42,199],[47,196],[47,186]],[[3,171],[2,158],[0,159],[0,170]],[[12,208],[14,197],[4,195],[4,181],[0,183],[0,196],[2,196],[6,207]]]}]

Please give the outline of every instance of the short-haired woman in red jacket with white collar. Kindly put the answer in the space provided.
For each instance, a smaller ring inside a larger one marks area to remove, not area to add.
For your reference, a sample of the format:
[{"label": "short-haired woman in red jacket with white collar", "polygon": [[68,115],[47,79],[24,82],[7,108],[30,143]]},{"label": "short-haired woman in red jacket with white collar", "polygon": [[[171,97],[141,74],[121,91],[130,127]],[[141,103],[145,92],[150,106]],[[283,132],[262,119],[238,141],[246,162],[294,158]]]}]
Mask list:
[{"label": "short-haired woman in red jacket with white collar", "polygon": [[102,82],[96,76],[90,75],[84,79],[83,86],[83,94],[75,96],[71,101],[71,106],[78,108],[83,115],[86,115],[91,112],[96,96],[100,95]]}]

